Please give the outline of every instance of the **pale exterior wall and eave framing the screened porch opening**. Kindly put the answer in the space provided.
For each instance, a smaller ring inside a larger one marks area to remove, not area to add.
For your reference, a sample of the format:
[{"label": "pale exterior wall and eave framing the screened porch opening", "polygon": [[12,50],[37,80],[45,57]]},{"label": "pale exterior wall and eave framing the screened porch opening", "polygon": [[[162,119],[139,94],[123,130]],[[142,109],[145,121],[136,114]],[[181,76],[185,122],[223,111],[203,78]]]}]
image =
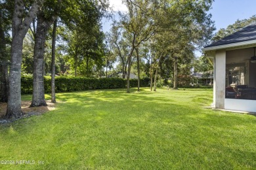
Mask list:
[{"label": "pale exterior wall and eave framing the screened porch opening", "polygon": [[[250,42],[250,43],[249,43]],[[256,63],[249,59],[253,56],[253,42],[239,42],[203,48],[203,52],[213,61],[213,105],[215,109],[238,110],[244,112],[256,112],[256,100],[254,99],[225,99],[226,64],[245,63],[245,84],[256,88]]]}]

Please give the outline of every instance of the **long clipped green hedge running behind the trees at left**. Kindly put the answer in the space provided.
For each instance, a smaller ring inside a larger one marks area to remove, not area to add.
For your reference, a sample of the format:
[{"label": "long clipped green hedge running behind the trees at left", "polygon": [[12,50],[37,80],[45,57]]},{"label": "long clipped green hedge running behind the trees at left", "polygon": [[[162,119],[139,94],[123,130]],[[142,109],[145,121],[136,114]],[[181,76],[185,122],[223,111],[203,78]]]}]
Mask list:
[{"label": "long clipped green hedge running behind the trees at left", "polygon": [[[137,79],[130,80],[130,87],[137,87]],[[123,78],[85,78],[72,76],[56,76],[56,92],[74,92],[83,90],[108,89],[108,88],[126,88],[127,80]],[[150,78],[140,80],[140,87],[150,86]],[[32,93],[32,76],[22,76],[22,93]],[[51,92],[51,76],[45,76],[45,93]]]}]

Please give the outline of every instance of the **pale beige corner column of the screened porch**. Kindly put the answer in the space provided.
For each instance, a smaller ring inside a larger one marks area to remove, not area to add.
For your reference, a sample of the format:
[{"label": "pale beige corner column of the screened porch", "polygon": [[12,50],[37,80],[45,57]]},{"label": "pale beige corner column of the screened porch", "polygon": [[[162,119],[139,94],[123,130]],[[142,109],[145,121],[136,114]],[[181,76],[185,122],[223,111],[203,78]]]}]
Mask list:
[{"label": "pale beige corner column of the screened porch", "polygon": [[215,52],[215,81],[213,82],[213,103],[216,109],[224,109],[226,75],[226,51]]}]

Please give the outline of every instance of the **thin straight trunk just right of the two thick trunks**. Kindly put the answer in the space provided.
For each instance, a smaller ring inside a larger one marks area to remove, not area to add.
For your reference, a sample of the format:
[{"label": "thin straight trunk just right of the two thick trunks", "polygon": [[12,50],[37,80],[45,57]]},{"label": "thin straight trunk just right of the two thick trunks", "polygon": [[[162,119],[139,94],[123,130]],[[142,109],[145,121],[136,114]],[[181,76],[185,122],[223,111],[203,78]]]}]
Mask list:
[{"label": "thin straight trunk just right of the two thick trunks", "polygon": [[51,102],[56,103],[55,97],[55,50],[56,50],[56,29],[57,29],[57,18],[53,24],[53,43],[52,43],[52,77],[51,77]]}]

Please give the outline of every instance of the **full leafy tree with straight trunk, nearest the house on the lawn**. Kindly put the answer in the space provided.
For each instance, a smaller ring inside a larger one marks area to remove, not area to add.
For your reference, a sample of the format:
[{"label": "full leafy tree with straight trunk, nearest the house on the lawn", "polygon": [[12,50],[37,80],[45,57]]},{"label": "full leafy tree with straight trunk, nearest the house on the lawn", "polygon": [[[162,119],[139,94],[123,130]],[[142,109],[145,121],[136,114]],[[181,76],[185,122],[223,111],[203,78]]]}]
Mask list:
[{"label": "full leafy tree with straight trunk, nearest the house on the lawn", "polygon": [[[212,1],[165,1],[160,5],[158,25],[160,34],[164,31],[171,35],[170,56],[173,58],[173,88],[177,89],[177,62],[191,56],[193,46],[202,46],[209,41],[215,29],[211,14],[207,10]],[[166,34],[165,34],[166,35]]]}]

